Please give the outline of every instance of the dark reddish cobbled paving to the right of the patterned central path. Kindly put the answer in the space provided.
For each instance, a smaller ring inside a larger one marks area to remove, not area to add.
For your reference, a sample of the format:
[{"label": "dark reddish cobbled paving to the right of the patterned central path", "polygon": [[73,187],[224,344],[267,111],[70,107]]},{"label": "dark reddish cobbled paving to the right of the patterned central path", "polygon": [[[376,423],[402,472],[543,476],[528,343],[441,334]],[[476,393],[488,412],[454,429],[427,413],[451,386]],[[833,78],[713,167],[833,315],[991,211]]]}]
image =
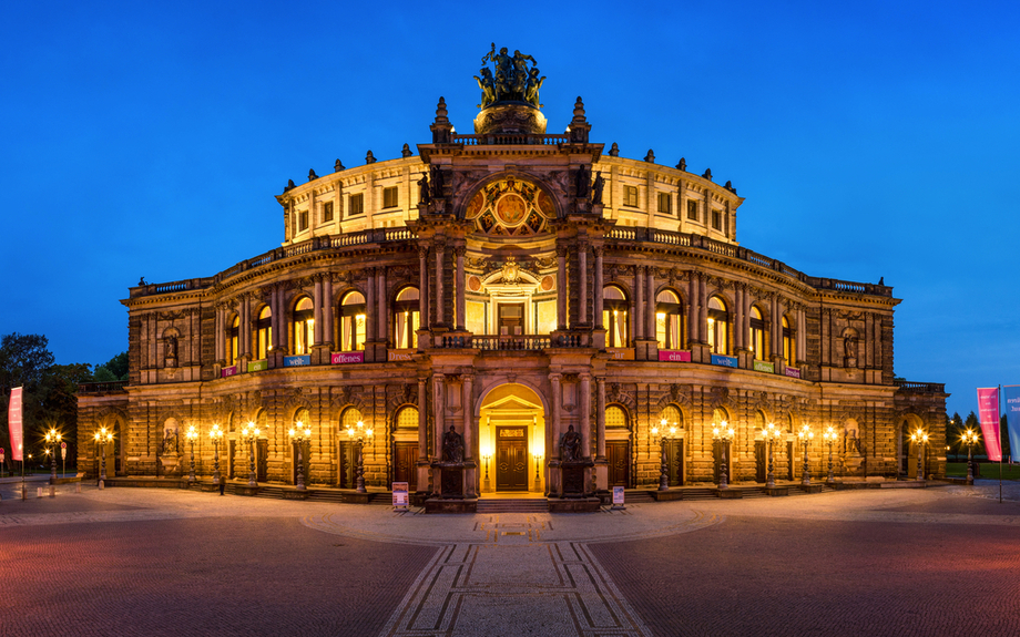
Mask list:
[{"label": "dark reddish cobbled paving to the right of the patterned central path", "polygon": [[591,549],[664,637],[1020,635],[1016,526],[731,515]]}]

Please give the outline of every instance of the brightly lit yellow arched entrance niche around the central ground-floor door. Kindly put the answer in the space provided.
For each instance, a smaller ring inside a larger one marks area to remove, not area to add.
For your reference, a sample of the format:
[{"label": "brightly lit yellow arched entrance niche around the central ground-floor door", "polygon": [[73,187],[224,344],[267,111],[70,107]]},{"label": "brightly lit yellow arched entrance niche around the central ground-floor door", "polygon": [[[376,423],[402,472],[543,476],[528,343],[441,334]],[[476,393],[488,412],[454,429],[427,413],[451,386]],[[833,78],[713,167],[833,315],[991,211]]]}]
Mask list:
[{"label": "brightly lit yellow arched entrance niche around the central ground-floor door", "polygon": [[545,414],[534,390],[502,384],[479,410],[482,493],[541,492],[545,487]]}]

